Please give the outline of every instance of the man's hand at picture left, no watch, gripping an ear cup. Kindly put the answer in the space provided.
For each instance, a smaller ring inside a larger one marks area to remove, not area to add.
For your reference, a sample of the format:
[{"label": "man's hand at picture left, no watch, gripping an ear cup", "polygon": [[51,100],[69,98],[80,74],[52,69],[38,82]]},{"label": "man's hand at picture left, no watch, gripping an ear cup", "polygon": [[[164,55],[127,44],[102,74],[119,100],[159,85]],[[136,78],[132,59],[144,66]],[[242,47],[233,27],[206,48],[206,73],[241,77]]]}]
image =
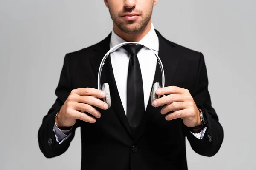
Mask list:
[{"label": "man's hand at picture left, no watch, gripping an ear cup", "polygon": [[78,88],[72,90],[55,118],[56,125],[64,130],[67,127],[72,127],[76,123],[76,119],[95,123],[95,118],[81,111],[85,111],[96,118],[100,118],[101,114],[98,110],[93,108],[93,106],[104,110],[108,109],[107,103],[99,99],[105,96],[104,91],[95,88]]}]

